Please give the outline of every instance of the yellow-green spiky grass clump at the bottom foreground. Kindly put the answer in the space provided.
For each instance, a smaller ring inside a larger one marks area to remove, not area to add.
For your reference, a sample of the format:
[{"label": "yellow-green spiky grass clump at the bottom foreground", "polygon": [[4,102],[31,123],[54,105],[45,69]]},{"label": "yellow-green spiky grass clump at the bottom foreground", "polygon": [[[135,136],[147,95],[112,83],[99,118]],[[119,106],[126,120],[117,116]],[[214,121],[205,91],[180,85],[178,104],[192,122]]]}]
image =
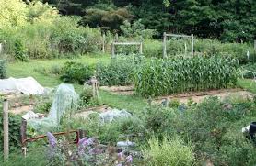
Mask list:
[{"label": "yellow-green spiky grass clump at the bottom foreground", "polygon": [[186,146],[178,137],[164,137],[162,142],[157,138],[151,138],[148,144],[149,148],[143,151],[145,162],[147,163],[146,165],[191,166],[195,164],[192,146]]}]

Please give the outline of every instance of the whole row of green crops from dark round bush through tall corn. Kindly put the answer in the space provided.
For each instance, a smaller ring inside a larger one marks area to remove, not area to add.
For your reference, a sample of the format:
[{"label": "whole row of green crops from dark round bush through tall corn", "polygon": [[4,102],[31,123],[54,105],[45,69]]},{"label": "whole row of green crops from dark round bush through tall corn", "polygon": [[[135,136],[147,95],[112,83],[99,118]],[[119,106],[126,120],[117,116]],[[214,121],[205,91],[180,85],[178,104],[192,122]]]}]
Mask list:
[{"label": "whole row of green crops from dark round bush through tall corn", "polygon": [[68,61],[64,67],[51,70],[69,83],[87,83],[95,75],[100,85],[133,84],[136,94],[148,97],[232,87],[239,77],[238,67],[236,59],[221,56],[165,60],[126,57],[96,65]]}]

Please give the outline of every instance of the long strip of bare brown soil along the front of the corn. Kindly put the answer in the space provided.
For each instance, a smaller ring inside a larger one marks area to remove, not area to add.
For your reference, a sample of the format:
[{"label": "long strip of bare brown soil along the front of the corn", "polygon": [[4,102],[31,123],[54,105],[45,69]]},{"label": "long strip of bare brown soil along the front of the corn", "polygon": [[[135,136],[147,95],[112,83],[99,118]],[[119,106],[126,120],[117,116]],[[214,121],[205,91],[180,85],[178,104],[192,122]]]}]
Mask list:
[{"label": "long strip of bare brown soil along the front of the corn", "polygon": [[195,92],[195,93],[184,93],[184,94],[174,94],[169,96],[161,96],[155,99],[155,103],[161,103],[164,99],[169,98],[180,101],[180,103],[187,104],[190,100],[196,103],[200,103],[204,98],[209,96],[218,96],[220,99],[225,99],[229,95],[239,96],[242,98],[252,98],[253,94],[241,89],[225,89],[225,90],[213,90],[207,92]]}]

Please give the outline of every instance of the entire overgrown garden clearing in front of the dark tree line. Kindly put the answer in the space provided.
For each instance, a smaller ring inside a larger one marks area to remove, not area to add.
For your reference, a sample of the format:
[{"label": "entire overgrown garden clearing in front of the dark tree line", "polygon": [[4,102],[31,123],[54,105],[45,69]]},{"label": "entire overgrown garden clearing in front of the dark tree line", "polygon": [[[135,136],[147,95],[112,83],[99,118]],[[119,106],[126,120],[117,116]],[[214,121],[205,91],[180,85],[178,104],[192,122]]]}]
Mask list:
[{"label": "entire overgrown garden clearing in front of the dark tree line", "polygon": [[[129,22],[129,7],[108,9],[114,26],[122,22],[111,30],[103,26],[109,17],[92,28],[89,16],[62,16],[37,1],[4,0],[2,6],[7,8],[6,17],[0,11],[4,165],[256,163],[251,41],[192,34],[165,39],[166,33],[162,39],[162,32],[145,28],[142,20]],[[132,93],[110,91],[115,88]],[[203,99],[193,101],[196,96]]]}]

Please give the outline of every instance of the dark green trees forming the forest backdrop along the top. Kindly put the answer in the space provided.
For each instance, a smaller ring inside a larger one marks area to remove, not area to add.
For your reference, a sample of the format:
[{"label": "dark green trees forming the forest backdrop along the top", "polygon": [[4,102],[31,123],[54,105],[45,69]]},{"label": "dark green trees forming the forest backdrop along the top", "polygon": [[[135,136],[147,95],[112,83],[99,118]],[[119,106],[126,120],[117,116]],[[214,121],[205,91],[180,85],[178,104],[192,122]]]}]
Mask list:
[{"label": "dark green trees forming the forest backdrop along the top", "polygon": [[[83,17],[92,27],[119,30],[124,20],[141,20],[145,28],[195,34],[223,41],[256,37],[255,0],[43,0],[64,15]],[[120,12],[125,11],[120,15]],[[133,17],[131,17],[133,16]]]}]

